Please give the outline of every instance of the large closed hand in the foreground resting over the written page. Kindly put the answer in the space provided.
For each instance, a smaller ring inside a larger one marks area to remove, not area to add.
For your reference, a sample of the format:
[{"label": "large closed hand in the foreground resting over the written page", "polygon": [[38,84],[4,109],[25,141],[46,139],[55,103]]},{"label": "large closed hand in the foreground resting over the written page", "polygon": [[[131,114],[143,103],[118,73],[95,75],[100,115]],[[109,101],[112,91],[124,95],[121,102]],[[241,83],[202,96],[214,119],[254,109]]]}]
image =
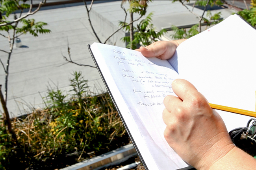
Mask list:
[{"label": "large closed hand in the foreground resting over the written page", "polygon": [[190,82],[176,79],[172,87],[178,97],[164,99],[164,137],[184,161],[209,170],[235,146],[220,115]]}]

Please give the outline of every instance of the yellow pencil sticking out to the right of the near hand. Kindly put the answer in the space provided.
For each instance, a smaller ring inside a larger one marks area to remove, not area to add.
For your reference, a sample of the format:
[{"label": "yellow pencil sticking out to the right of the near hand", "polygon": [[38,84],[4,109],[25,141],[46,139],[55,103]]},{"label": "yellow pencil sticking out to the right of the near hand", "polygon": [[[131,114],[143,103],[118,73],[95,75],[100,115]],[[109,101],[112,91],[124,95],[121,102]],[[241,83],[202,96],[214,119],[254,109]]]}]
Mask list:
[{"label": "yellow pencil sticking out to the right of the near hand", "polygon": [[213,108],[213,109],[223,110],[223,111],[226,111],[226,112],[237,113],[237,114],[240,114],[240,115],[246,115],[246,116],[256,117],[256,112],[252,112],[252,111],[249,111],[249,110],[231,108],[231,107],[221,106],[221,105],[211,104],[211,103],[209,103],[209,105],[210,105],[211,108]]}]

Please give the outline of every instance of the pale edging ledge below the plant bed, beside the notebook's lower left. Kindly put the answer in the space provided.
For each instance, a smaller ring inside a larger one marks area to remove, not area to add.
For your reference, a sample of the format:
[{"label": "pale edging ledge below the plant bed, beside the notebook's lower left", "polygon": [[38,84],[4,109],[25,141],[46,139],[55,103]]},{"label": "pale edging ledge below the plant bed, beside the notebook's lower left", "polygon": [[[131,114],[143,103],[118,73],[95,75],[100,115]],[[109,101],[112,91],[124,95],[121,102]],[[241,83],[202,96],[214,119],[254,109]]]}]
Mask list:
[{"label": "pale edging ledge below the plant bed, beside the notebook's lower left", "polygon": [[99,170],[101,168],[118,165],[130,157],[137,155],[133,144],[128,144],[106,154],[68,166],[60,170]]}]

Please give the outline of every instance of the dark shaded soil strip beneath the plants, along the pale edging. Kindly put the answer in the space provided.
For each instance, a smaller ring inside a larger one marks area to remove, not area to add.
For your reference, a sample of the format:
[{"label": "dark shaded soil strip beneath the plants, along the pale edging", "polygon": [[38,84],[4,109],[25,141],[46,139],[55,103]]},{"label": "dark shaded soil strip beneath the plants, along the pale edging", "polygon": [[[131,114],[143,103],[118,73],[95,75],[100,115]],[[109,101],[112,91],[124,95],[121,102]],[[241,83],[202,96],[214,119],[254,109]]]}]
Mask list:
[{"label": "dark shaded soil strip beneath the plants, along the pale edging", "polygon": [[[28,153],[24,153],[22,150],[17,149],[16,152],[8,155],[10,163],[8,165],[5,165],[5,168],[6,170],[17,169],[17,167],[19,167],[19,169],[21,170],[59,170],[67,166],[74,165],[83,160],[91,159],[92,157],[105,154],[107,152],[110,152],[111,150],[115,150],[129,143],[132,142],[128,134],[125,133],[122,137],[114,139],[110,144],[105,144],[104,146],[102,146],[99,152],[93,151],[89,153],[84,153],[79,161],[78,157],[80,156],[81,152],[54,155],[52,157],[35,160],[33,159],[33,155],[29,155]],[[20,152],[18,150],[20,150]]]}]

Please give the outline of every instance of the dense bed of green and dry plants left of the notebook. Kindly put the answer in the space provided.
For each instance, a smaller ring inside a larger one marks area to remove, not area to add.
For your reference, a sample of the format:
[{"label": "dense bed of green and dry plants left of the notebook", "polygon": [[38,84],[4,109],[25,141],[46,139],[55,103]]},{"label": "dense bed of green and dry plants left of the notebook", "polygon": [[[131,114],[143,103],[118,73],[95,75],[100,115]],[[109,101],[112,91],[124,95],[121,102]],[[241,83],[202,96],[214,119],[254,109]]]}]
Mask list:
[{"label": "dense bed of green and dry plants left of the notebook", "polygon": [[0,124],[1,166],[61,168],[66,164],[59,166],[53,161],[61,159],[65,163],[72,157],[74,164],[129,142],[108,93],[94,95],[82,73],[72,75],[70,93],[58,87],[49,88],[45,109],[12,120],[19,147],[9,143],[11,137],[6,133],[6,126]]}]

